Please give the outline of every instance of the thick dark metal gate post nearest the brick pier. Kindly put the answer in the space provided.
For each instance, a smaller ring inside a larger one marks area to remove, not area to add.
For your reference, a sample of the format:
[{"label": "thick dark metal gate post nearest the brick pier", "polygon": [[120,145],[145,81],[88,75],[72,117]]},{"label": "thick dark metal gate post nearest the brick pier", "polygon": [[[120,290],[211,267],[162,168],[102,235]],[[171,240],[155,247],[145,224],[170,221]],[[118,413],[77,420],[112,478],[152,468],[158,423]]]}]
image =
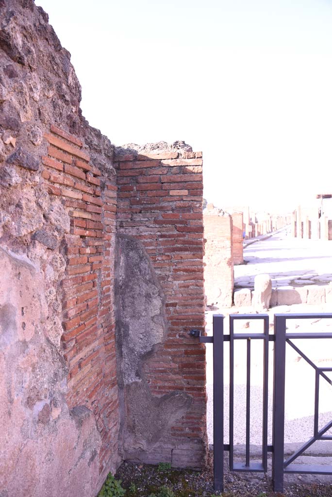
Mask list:
[{"label": "thick dark metal gate post nearest the brick pier", "polygon": [[213,486],[224,491],[224,316],[213,316]]}]

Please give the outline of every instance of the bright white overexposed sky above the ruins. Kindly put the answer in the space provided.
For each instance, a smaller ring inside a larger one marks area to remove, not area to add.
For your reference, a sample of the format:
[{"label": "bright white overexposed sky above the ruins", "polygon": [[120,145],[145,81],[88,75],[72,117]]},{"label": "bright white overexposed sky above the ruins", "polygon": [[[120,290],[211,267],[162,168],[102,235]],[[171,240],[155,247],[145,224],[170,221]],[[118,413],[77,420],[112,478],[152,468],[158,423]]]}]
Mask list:
[{"label": "bright white overexposed sky above the ruins", "polygon": [[115,145],[185,140],[204,196],[293,209],[332,190],[331,0],[36,0]]}]

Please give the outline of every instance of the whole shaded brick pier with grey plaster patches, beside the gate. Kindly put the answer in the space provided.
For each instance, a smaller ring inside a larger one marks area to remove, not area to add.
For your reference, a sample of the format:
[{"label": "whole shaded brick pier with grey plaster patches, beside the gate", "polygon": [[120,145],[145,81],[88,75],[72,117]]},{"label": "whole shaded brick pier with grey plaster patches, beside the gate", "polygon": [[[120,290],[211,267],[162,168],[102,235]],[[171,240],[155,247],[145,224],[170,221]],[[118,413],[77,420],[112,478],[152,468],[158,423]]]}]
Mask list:
[{"label": "whole shaded brick pier with grey plaster patches, beside the gate", "polygon": [[202,154],[115,158],[117,348],[123,457],[206,461]]}]

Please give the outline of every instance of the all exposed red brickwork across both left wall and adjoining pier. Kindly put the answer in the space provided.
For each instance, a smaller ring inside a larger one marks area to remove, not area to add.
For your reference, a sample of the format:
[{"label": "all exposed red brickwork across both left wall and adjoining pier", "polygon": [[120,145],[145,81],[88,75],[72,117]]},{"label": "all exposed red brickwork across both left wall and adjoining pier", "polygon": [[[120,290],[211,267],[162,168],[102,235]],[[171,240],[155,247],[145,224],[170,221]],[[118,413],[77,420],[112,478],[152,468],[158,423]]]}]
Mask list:
[{"label": "all exposed red brickwork across both left wall and adjoining pier", "polygon": [[[201,467],[206,457],[202,154],[167,152],[116,158],[117,183],[92,166],[83,142],[52,126],[42,158],[45,188],[71,217],[63,254],[63,355],[70,408],[86,406],[102,436],[99,471],[118,453],[119,406],[114,314],[115,222],[146,248],[166,295],[166,342],[145,362],[151,393],[192,398],[190,409],[147,458]],[[118,210],[117,210],[118,205]],[[118,212],[116,214],[116,211]]]}]

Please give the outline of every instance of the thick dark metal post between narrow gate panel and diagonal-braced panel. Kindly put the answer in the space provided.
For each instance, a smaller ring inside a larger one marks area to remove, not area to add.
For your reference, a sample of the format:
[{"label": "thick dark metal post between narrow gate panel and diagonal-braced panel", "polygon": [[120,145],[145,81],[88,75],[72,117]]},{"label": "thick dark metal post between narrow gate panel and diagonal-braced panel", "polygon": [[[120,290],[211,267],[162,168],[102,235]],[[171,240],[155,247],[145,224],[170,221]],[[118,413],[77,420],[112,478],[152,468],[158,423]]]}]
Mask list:
[{"label": "thick dark metal post between narrow gate panel and diagonal-braced panel", "polygon": [[274,375],[273,375],[273,459],[272,480],[274,492],[284,487],[284,425],[285,425],[285,361],[286,318],[274,315]]}]

